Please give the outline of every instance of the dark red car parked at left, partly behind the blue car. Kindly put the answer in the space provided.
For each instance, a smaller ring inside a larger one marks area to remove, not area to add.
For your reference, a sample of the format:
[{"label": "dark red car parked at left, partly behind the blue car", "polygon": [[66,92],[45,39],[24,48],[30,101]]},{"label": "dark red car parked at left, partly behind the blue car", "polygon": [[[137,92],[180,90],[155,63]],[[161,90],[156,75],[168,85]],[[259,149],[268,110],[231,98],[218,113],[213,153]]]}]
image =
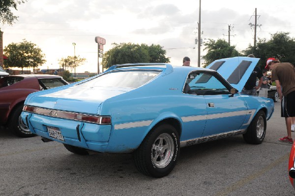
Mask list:
[{"label": "dark red car parked at left, partly behind the blue car", "polygon": [[56,75],[10,75],[0,79],[0,125],[21,137],[33,136],[20,118],[30,93],[68,83]]}]

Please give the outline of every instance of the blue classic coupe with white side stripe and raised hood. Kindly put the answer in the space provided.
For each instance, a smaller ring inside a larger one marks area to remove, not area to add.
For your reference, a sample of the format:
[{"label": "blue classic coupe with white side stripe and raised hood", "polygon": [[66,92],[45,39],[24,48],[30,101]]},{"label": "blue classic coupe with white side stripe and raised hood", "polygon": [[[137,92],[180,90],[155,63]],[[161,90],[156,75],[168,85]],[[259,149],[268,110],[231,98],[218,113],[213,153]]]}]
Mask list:
[{"label": "blue classic coupe with white side stripe and raised hood", "polygon": [[140,172],[163,177],[176,165],[180,147],[238,134],[248,143],[263,142],[273,100],[238,93],[258,61],[221,59],[210,69],[114,65],[90,79],[30,94],[22,119],[45,142],[61,142],[81,155],[133,153]]}]

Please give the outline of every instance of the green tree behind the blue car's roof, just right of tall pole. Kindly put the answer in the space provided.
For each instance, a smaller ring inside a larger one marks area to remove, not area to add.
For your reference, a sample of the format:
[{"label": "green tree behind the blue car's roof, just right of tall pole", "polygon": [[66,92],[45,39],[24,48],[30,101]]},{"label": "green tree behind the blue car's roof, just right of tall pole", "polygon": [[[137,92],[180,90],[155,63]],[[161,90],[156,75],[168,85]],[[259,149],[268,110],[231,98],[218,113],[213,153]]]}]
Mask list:
[{"label": "green tree behind the blue car's roof, just right of tall pole", "polygon": [[229,46],[229,43],[224,39],[209,39],[205,44],[207,54],[202,57],[205,60],[204,67],[207,67],[210,63],[217,59],[224,59],[230,57],[239,56],[239,52],[236,50],[236,46]]}]

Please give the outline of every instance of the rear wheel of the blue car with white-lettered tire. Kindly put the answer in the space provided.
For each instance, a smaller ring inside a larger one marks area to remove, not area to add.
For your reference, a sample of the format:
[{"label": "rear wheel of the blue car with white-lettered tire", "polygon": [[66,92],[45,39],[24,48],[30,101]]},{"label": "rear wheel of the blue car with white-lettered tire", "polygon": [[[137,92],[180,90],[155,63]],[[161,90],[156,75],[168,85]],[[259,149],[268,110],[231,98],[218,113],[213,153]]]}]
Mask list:
[{"label": "rear wheel of the blue car with white-lettered tire", "polygon": [[175,167],[179,147],[177,130],[172,125],[159,125],[148,133],[139,148],[133,152],[134,163],[145,175],[164,177]]}]

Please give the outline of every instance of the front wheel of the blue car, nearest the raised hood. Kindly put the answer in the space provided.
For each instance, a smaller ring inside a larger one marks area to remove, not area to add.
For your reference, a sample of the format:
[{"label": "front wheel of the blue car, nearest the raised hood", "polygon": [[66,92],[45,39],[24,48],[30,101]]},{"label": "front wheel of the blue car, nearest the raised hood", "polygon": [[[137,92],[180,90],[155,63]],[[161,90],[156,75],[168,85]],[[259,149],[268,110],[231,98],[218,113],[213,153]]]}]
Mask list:
[{"label": "front wheel of the blue car, nearest the raised hood", "polygon": [[260,110],[250,123],[243,138],[250,144],[261,144],[266,136],[266,114]]}]

